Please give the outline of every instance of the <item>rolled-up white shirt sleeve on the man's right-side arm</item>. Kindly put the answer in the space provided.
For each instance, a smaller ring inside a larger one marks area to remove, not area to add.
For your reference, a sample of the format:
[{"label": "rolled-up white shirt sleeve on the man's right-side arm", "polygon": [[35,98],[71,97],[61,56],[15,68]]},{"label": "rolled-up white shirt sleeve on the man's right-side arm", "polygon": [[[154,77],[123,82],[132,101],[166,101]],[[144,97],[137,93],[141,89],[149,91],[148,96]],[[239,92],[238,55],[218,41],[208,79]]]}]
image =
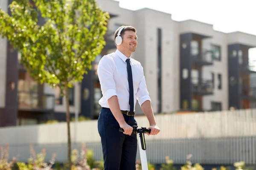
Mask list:
[{"label": "rolled-up white shirt sleeve on the man's right-side arm", "polygon": [[147,100],[151,102],[142,66],[141,66],[141,72],[142,72],[141,80],[140,80],[139,88],[136,94],[136,99],[138,100],[140,106]]}]

